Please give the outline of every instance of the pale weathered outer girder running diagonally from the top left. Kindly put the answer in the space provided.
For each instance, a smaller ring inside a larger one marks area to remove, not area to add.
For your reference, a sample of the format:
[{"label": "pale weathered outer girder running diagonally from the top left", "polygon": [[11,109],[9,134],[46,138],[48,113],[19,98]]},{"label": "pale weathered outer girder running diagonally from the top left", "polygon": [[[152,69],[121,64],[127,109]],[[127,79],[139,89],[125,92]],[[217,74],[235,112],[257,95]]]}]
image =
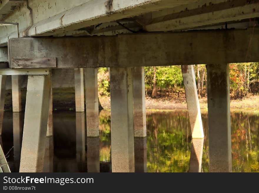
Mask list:
[{"label": "pale weathered outer girder running diagonally from the top left", "polygon": [[[197,0],[28,0],[31,11],[24,3],[5,20],[19,23],[21,37],[49,36],[195,1]],[[17,37],[15,28],[5,26],[0,31],[0,37],[0,44],[6,43],[8,38]]]}]

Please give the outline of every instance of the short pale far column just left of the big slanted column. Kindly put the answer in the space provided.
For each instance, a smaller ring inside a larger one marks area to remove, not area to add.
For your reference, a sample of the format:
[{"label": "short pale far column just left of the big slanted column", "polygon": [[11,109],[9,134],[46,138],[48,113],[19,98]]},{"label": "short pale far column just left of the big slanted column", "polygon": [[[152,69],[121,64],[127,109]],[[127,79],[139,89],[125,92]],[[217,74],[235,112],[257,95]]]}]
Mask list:
[{"label": "short pale far column just left of the big slanted column", "polygon": [[13,112],[21,112],[21,75],[12,75]]}]

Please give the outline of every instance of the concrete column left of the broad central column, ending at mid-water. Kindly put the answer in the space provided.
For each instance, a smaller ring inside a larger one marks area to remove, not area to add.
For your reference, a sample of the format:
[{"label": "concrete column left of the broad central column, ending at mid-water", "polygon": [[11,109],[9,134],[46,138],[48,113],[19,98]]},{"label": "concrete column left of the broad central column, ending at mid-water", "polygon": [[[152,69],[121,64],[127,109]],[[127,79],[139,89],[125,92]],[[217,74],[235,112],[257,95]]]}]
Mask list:
[{"label": "concrete column left of the broad central column, ending at mid-water", "polygon": [[99,137],[98,68],[85,69],[87,137]]}]

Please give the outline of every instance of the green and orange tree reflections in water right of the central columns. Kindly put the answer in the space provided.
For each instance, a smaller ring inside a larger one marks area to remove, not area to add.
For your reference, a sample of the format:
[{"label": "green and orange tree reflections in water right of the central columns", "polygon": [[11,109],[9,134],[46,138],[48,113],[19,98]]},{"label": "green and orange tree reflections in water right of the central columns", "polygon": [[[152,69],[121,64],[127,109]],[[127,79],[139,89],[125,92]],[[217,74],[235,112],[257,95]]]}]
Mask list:
[{"label": "green and orange tree reflections in water right of the central columns", "polygon": [[[202,114],[202,171],[209,171],[208,116]],[[255,114],[231,113],[233,172],[259,172],[259,119]],[[187,111],[147,114],[147,171],[187,172],[190,128]],[[189,131],[188,131],[189,130]],[[189,136],[189,137],[188,137]]]}]

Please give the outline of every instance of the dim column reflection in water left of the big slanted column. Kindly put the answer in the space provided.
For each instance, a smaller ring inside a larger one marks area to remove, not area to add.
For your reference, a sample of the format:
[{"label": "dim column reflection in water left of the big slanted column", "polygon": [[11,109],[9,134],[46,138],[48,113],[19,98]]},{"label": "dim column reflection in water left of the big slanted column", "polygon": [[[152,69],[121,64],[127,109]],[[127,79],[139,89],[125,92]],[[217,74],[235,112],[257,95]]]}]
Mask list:
[{"label": "dim column reflection in water left of the big slanted column", "polygon": [[14,137],[14,166],[15,171],[19,171],[21,157],[21,140],[23,121],[20,112],[13,112],[13,137]]}]

